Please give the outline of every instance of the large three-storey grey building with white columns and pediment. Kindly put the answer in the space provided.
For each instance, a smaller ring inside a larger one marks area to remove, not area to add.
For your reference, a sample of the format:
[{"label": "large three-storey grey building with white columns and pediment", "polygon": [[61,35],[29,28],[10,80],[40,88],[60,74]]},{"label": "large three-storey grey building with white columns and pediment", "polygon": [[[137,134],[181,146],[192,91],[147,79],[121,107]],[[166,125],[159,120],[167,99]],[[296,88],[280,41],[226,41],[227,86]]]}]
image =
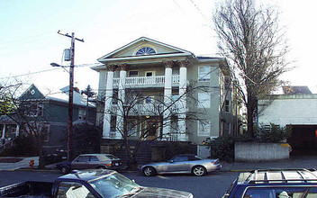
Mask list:
[{"label": "large three-storey grey building with white columns and pediment", "polygon": [[223,58],[192,52],[142,37],[98,59],[96,121],[104,139],[191,141],[237,130],[237,100]]}]

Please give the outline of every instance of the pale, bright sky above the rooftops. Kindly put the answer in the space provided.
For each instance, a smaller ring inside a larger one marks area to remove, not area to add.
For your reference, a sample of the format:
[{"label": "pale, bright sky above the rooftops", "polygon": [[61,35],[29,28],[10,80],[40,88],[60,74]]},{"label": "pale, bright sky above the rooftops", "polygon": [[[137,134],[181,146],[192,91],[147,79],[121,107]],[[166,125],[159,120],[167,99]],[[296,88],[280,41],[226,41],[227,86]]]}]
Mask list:
[{"label": "pale, bright sky above the rooftops", "polygon": [[[217,0],[219,1],[219,0]],[[266,0],[281,11],[294,69],[282,76],[290,85],[308,85],[317,94],[317,2]],[[265,2],[265,1],[261,1]],[[158,40],[196,56],[219,56],[212,15],[216,0],[0,0],[0,82],[13,79],[42,91],[58,91],[69,83],[68,72],[51,67],[62,61],[75,32],[75,85],[96,91],[97,58],[140,37]],[[35,73],[35,74],[34,74]]]}]

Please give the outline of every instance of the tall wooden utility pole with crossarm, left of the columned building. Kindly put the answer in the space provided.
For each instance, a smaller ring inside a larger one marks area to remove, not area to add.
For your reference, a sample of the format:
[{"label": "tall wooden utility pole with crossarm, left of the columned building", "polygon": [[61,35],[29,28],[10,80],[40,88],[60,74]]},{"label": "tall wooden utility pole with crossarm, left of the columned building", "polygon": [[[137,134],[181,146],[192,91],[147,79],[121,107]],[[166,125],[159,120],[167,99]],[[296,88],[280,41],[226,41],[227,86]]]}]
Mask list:
[{"label": "tall wooden utility pole with crossarm, left of the columned building", "polygon": [[74,59],[75,59],[75,40],[84,42],[84,40],[77,39],[75,33],[72,32],[71,36],[66,33],[58,33],[62,36],[71,38],[70,47],[70,67],[69,67],[69,97],[68,97],[68,161],[73,157],[73,109],[74,109]]}]

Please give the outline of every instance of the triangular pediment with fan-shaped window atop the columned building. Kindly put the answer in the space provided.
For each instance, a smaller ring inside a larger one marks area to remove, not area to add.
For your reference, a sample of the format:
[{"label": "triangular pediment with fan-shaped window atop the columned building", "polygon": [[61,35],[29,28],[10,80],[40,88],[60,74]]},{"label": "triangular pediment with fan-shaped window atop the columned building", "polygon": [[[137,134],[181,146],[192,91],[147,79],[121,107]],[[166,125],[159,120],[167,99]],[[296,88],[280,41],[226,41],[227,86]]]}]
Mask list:
[{"label": "triangular pediment with fan-shaped window atop the columned building", "polygon": [[190,51],[185,49],[179,49],[157,40],[141,37],[138,40],[134,40],[131,43],[122,46],[122,48],[116,49],[109,54],[104,55],[104,57],[99,58],[98,61],[120,58],[153,58],[161,55],[172,56],[177,54],[188,56],[192,55]]}]

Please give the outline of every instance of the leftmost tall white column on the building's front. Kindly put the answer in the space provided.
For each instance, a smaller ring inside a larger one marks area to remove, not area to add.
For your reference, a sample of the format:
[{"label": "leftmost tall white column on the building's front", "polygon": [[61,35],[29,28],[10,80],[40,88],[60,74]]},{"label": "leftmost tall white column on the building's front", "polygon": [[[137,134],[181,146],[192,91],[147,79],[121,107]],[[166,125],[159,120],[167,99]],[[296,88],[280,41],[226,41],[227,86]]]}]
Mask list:
[{"label": "leftmost tall white column on the building's front", "polygon": [[113,76],[114,76],[113,66],[108,67],[107,73],[107,85],[105,87],[105,97],[104,97],[104,130],[103,138],[110,138],[111,129],[111,106],[113,105]]}]

